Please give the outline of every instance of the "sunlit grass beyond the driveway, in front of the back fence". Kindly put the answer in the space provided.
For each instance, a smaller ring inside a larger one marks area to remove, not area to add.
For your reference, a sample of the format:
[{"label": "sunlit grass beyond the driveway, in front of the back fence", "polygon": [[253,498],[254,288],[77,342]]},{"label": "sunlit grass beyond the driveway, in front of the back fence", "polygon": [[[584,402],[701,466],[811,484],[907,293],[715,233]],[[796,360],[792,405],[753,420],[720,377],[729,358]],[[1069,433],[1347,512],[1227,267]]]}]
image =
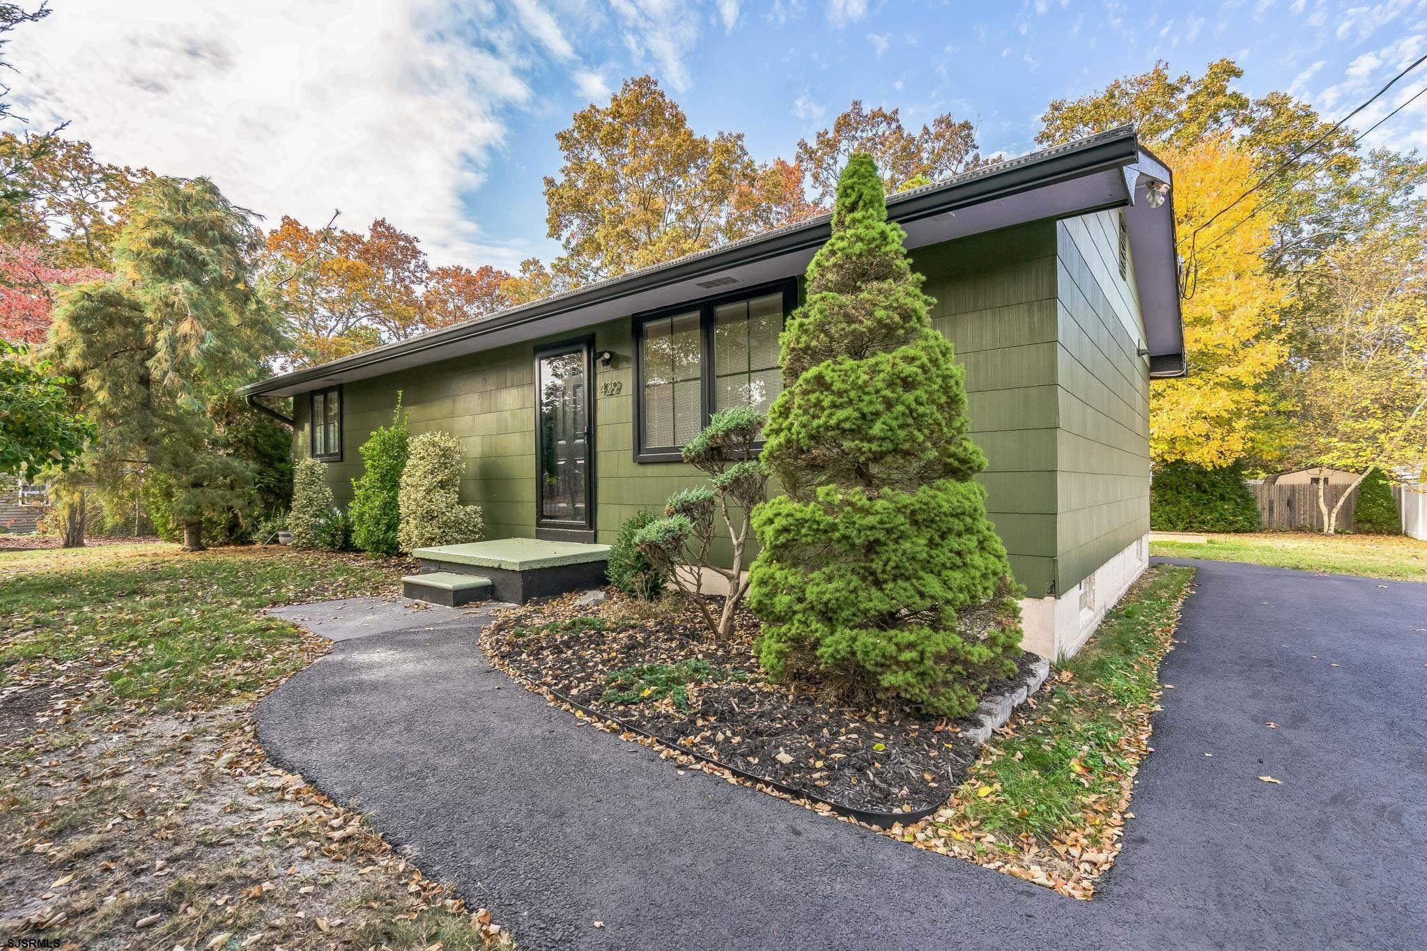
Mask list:
[{"label": "sunlit grass beyond the driveway, in front of the back fence", "polygon": [[1150,555],[1253,562],[1324,575],[1361,575],[1427,582],[1427,542],[1403,535],[1320,535],[1254,532],[1210,535],[1207,545],[1152,542]]}]

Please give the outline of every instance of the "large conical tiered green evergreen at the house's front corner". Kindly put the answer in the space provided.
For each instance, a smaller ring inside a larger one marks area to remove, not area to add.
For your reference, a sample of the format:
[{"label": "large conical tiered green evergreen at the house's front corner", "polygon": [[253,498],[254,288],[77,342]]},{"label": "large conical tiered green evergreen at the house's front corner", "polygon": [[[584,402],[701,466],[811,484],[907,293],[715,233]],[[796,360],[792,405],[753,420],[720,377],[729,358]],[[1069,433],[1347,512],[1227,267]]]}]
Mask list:
[{"label": "large conical tiered green evergreen at the house's front corner", "polygon": [[762,461],[786,495],[753,515],[748,603],[773,677],[963,716],[1012,673],[1020,622],[972,480],[986,461],[966,436],[962,368],[903,237],[876,165],[853,155],[782,336]]}]

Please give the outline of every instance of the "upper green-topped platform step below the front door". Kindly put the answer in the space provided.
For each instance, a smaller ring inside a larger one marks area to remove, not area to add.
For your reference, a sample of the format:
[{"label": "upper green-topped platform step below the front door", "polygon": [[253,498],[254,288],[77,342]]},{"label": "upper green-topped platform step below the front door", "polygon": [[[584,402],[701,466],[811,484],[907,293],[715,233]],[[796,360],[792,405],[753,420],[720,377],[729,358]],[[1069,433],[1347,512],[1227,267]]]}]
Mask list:
[{"label": "upper green-topped platform step below the front door", "polygon": [[488,577],[498,600],[524,605],[532,597],[604,586],[609,546],[542,539],[495,539],[469,545],[418,548],[412,556],[421,562],[421,575],[417,577],[437,572]]}]

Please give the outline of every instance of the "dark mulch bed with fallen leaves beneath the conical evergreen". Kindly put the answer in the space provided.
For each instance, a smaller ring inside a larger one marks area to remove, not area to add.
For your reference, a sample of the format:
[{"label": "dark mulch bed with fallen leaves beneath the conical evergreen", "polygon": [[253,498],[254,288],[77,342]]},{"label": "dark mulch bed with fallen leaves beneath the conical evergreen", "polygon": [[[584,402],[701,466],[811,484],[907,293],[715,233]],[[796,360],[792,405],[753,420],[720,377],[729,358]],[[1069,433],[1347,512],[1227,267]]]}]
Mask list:
[{"label": "dark mulch bed with fallen leaves beneath the conical evergreen", "polygon": [[[508,673],[594,713],[833,806],[919,813],[945,801],[980,747],[952,721],[769,684],[742,610],[715,642],[692,605],[572,596],[502,613],[481,634]],[[1025,656],[1029,667],[1033,654]],[[993,689],[997,684],[993,684]]]}]

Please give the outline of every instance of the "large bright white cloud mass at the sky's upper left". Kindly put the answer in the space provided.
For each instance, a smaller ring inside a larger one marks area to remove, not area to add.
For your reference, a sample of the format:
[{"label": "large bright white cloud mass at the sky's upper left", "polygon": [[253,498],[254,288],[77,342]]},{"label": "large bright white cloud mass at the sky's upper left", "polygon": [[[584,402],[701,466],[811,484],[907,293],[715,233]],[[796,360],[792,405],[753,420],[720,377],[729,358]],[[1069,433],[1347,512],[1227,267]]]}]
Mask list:
[{"label": "large bright white cloud mass at the sky's upper left", "polygon": [[[462,207],[532,98],[538,50],[492,16],[437,0],[68,0],[7,51],[17,111],[68,120],[108,161],[211,177],[270,225],[341,208],[348,228],[387,217],[434,259],[512,265],[528,248],[488,241]],[[558,53],[557,36],[534,43]]]}]

